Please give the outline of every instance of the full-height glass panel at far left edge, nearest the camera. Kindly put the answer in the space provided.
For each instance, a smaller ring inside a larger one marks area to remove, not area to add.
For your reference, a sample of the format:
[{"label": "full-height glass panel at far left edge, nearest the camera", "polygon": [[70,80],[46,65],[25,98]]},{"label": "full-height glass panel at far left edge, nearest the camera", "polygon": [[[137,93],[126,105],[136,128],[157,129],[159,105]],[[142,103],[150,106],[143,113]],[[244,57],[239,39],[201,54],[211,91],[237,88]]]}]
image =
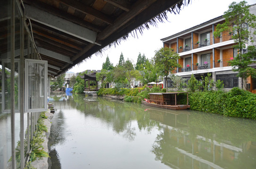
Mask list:
[{"label": "full-height glass panel at far left edge, nearest the camera", "polygon": [[[3,112],[3,104],[7,105],[10,98],[3,98],[3,63],[2,59],[10,57],[10,0],[0,0],[0,169],[6,169],[11,157],[11,116],[10,112]],[[10,73],[10,71],[8,72]],[[7,72],[6,72],[7,74]],[[9,163],[9,166],[11,164]]]}]

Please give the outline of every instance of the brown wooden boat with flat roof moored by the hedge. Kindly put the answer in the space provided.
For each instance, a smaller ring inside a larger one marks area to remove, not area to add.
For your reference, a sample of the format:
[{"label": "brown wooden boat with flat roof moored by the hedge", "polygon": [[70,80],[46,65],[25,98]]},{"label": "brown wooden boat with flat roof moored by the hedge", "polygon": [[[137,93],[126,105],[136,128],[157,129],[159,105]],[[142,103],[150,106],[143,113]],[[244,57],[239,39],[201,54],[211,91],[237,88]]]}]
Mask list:
[{"label": "brown wooden boat with flat roof moored by the hedge", "polygon": [[145,99],[142,103],[148,106],[172,110],[184,110],[190,108],[188,92],[149,93],[149,100]]}]

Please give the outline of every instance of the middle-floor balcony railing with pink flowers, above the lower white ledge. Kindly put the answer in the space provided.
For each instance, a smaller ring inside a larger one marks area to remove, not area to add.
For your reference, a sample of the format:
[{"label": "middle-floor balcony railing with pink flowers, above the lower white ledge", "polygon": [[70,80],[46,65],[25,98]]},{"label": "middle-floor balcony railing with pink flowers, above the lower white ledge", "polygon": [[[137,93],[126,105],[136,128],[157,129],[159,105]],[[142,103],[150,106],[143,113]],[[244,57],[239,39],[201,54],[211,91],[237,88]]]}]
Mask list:
[{"label": "middle-floor balcony railing with pink flowers, above the lower white ledge", "polygon": [[214,68],[227,67],[227,66],[231,66],[229,61],[230,59],[224,59],[221,61],[211,61],[206,64],[199,62],[198,64],[192,64],[190,66],[185,65],[185,66],[182,66],[182,68],[179,68],[179,72],[190,72],[192,70],[212,69],[213,65],[214,65]]}]

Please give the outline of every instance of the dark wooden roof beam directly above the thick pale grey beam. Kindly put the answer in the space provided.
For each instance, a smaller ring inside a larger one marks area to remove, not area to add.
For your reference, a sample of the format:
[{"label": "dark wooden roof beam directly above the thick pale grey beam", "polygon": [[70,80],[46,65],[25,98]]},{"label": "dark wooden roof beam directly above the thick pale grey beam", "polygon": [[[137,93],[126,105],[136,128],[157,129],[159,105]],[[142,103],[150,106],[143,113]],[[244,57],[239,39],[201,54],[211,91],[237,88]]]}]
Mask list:
[{"label": "dark wooden roof beam directly above the thick pale grey beam", "polygon": [[97,31],[97,32],[100,32],[100,31],[103,31],[103,28],[99,27],[99,26],[95,26],[94,24],[92,23],[89,23],[89,22],[86,22],[84,21],[83,19],[80,19],[78,17],[75,17],[74,15],[71,15],[71,14],[68,14],[62,10],[59,10],[57,8],[54,8],[46,3],[43,3],[39,0],[23,0],[26,4],[29,4],[29,5],[33,5],[34,7],[36,8],[39,8],[39,9],[42,9],[46,12],[49,12],[50,14],[52,15],[56,15],[56,16],[59,16],[63,19],[66,19],[70,22],[73,22],[73,23],[76,23],[76,24],[79,24],[85,28],[89,28],[91,29],[92,31]]}]

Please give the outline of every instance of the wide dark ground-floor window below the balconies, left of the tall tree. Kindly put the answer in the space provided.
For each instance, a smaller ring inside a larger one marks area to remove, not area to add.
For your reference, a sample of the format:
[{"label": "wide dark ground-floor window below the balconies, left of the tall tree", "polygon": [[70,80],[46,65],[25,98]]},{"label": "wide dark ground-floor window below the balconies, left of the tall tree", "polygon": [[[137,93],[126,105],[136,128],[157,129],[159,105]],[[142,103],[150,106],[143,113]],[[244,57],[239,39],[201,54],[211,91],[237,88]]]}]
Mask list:
[{"label": "wide dark ground-floor window below the balconies, left of the tall tree", "polygon": [[238,87],[237,74],[216,75],[216,81],[217,80],[223,81],[224,88]]}]

